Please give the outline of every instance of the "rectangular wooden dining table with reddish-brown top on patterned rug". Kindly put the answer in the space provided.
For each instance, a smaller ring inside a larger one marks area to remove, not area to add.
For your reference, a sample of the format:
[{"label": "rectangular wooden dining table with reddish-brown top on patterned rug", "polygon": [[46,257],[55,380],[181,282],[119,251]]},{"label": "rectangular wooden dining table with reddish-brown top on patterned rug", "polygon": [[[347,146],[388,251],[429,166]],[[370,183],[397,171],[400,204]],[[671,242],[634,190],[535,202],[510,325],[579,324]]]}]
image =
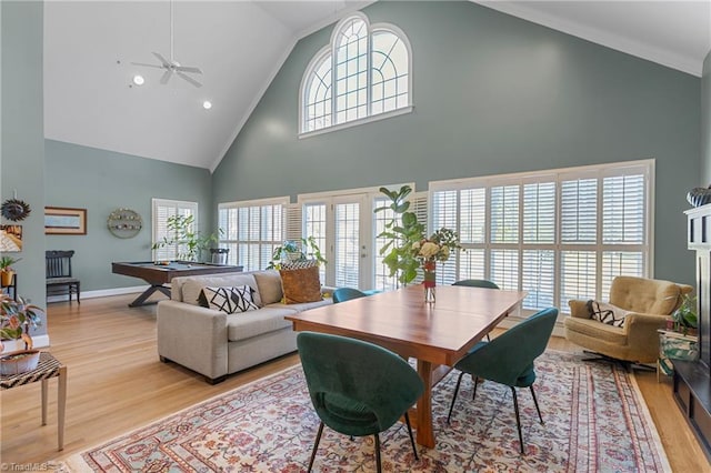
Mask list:
[{"label": "rectangular wooden dining table with reddish-brown top on patterned rug", "polygon": [[292,322],[294,331],[350,336],[415,359],[418,374],[424,382],[424,392],[412,416],[417,442],[433,447],[432,386],[525,296],[522,291],[442,285],[437,286],[435,302],[428,303],[424,289],[417,284],[286,319]]}]

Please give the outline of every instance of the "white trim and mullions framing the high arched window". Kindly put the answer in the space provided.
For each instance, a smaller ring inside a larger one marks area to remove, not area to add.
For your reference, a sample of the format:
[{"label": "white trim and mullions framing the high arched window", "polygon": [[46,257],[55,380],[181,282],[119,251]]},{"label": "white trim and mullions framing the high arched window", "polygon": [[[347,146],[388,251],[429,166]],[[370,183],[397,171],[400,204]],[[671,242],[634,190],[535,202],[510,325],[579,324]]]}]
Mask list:
[{"label": "white trim and mullions framing the high arched window", "polygon": [[[340,33],[342,26],[344,24],[344,22],[349,21],[350,19],[352,19],[353,17],[358,17],[360,18],[368,27],[368,117],[363,117],[361,119],[358,120],[351,120],[344,123],[338,123],[338,124],[331,124],[330,127],[324,127],[324,128],[320,128],[318,130],[313,130],[313,131],[303,131],[303,124],[306,122],[306,107],[304,107],[304,91],[306,91],[306,85],[307,85],[307,81],[309,81],[311,79],[311,73],[313,72],[313,68],[316,67],[316,64],[320,63],[326,56],[331,54],[331,120],[333,123],[334,120],[334,109],[336,109],[336,97],[334,97],[334,79],[333,79],[333,71],[336,70],[336,68],[333,67],[333,58],[336,58],[336,40],[338,39],[338,34]],[[400,109],[395,109],[395,110],[390,110],[388,112],[383,112],[383,113],[378,113],[378,114],[370,114],[371,113],[371,88],[372,88],[372,78],[371,78],[371,73],[372,73],[372,67],[371,67],[371,58],[372,58],[372,36],[374,32],[378,31],[389,31],[389,32],[393,32],[395,33],[400,40],[402,41],[402,43],[404,44],[407,51],[408,51],[408,105],[400,108]],[[410,43],[410,39],[408,38],[408,36],[404,33],[404,31],[402,31],[401,28],[392,24],[392,23],[384,23],[384,22],[380,22],[380,23],[370,23],[370,20],[368,19],[368,17],[364,13],[361,12],[354,12],[352,14],[349,14],[348,17],[343,18],[342,20],[340,20],[336,27],[333,28],[333,31],[331,32],[331,38],[329,40],[329,44],[324,46],[323,48],[321,48],[314,56],[313,58],[311,58],[311,60],[309,61],[309,64],[307,66],[306,72],[303,73],[303,76],[301,77],[301,82],[299,84],[299,133],[298,137],[299,139],[302,138],[311,138],[311,137],[317,137],[319,134],[323,134],[323,133],[330,133],[332,131],[339,131],[339,130],[344,130],[351,127],[359,127],[361,124],[367,124],[367,123],[371,123],[374,121],[379,121],[379,120],[387,120],[390,118],[394,118],[394,117],[400,117],[403,114],[408,114],[408,113],[412,113],[412,111],[414,110],[414,101],[413,101],[413,78],[412,78],[412,61],[413,61],[413,56],[412,56],[412,46]]]}]

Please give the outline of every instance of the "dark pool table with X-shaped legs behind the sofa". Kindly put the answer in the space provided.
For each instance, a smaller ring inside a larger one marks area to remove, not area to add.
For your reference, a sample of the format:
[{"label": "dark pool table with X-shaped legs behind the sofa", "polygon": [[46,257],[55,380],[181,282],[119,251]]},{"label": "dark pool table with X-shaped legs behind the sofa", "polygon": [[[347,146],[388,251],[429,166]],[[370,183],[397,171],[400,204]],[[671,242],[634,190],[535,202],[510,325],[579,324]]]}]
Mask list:
[{"label": "dark pool table with X-shaped legs behind the sofa", "polygon": [[227,264],[196,263],[193,261],[170,261],[157,263],[153,261],[141,261],[134,263],[111,263],[111,272],[133,278],[140,278],[150,284],[141,295],[129,304],[130,308],[154,304],[146,302],[156,291],[160,291],[170,298],[170,286],[166,285],[173,278],[198,274],[234,273],[242,271],[242,266],[230,266]]}]

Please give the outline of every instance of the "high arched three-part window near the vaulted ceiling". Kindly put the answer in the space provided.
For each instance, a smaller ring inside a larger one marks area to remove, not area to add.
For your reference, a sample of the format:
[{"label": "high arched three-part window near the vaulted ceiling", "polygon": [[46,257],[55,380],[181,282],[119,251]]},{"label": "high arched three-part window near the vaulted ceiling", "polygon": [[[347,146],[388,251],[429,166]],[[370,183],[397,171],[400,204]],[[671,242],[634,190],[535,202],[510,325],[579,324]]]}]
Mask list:
[{"label": "high arched three-part window near the vaulted ceiling", "polygon": [[303,76],[301,132],[410,111],[410,58],[407,37],[397,27],[370,26],[362,13],[341,20]]}]

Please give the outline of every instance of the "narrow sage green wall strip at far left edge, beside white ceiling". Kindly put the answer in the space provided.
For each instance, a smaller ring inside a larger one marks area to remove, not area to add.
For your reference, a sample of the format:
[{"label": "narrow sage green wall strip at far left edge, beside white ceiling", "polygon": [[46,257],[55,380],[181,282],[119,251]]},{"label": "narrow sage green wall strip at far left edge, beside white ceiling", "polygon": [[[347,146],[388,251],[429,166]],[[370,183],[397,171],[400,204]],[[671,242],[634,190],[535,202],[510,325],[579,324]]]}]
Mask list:
[{"label": "narrow sage green wall strip at far left edge, beside white ceiling", "polygon": [[[0,200],[30,204],[22,224],[22,258],[14,265],[18,293],[44,306],[44,119],[42,91],[43,4],[2,1],[2,133]],[[10,223],[3,220],[3,223]],[[47,333],[47,319],[34,334]]]}]

